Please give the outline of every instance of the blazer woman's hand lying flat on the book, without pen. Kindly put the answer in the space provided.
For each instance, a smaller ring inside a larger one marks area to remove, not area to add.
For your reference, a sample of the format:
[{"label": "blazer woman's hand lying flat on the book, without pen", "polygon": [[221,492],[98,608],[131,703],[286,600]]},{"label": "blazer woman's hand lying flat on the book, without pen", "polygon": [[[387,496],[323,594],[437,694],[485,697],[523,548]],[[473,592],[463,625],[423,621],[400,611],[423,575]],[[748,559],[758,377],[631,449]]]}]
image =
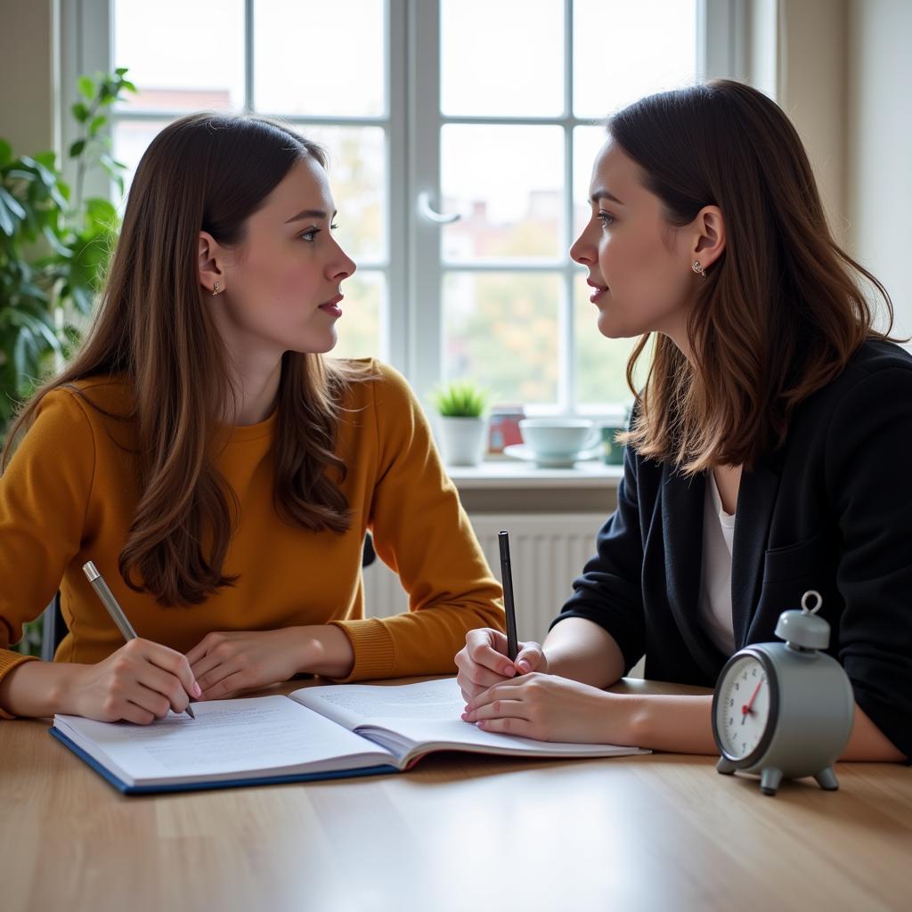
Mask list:
[{"label": "blazer woman's hand lying flat on the book, without pen", "polygon": [[[201,685],[202,686],[202,685]],[[462,719],[483,731],[533,738],[625,744],[625,713],[615,694],[579,681],[533,672],[495,684],[466,705]]]}]

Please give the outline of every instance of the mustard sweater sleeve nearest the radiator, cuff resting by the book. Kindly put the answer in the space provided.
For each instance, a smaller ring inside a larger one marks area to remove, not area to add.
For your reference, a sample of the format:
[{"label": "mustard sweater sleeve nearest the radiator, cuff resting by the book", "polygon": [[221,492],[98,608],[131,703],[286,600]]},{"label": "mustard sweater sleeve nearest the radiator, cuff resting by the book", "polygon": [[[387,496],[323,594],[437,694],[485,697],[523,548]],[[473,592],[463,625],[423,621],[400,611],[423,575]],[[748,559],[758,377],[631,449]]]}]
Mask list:
[{"label": "mustard sweater sleeve nearest the radiator, cuff resting by the book", "polygon": [[453,658],[469,630],[503,630],[503,593],[443,470],[418,400],[399,373],[379,370],[381,378],[372,384],[378,477],[368,526],[378,556],[409,594],[409,611],[333,622],[355,650],[346,680],[453,674]]}]

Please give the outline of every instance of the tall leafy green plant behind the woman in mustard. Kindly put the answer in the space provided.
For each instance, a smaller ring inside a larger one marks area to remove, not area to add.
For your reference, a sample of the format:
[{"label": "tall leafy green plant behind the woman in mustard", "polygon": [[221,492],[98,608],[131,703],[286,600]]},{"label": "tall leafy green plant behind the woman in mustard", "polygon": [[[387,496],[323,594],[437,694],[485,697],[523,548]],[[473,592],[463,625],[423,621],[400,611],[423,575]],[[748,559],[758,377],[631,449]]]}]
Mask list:
[{"label": "tall leafy green plant behind the woman in mustard", "polygon": [[83,199],[86,172],[101,167],[123,190],[124,166],[110,155],[110,105],[136,88],[125,67],[81,77],[71,108],[78,138],[68,155],[75,192],[52,151],[13,153],[0,139],[0,442],[19,400],[78,345],[119,229],[109,200]]}]

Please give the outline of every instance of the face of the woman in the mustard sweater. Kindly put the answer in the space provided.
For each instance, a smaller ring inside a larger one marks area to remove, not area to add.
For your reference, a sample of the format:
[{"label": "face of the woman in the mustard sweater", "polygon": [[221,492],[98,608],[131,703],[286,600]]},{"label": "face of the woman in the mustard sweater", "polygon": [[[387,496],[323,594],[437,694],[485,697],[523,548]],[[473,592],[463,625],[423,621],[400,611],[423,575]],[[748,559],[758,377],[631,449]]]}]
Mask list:
[{"label": "face of the woman in the mustard sweater", "polygon": [[212,309],[235,355],[336,345],[339,286],[356,266],[333,237],[335,214],[326,172],[308,156],[250,216],[242,244],[221,248],[224,293]]}]

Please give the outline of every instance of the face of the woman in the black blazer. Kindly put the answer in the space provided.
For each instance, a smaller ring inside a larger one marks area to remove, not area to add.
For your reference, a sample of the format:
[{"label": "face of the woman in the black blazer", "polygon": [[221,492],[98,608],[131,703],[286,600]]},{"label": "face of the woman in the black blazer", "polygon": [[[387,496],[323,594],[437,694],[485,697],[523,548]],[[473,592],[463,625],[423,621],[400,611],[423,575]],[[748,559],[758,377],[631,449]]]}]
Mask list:
[{"label": "face of the woman in the black blazer", "polygon": [[663,332],[680,345],[695,282],[703,281],[691,268],[692,232],[668,224],[637,163],[610,137],[596,157],[589,196],[592,215],[570,255],[589,270],[599,332]]}]

